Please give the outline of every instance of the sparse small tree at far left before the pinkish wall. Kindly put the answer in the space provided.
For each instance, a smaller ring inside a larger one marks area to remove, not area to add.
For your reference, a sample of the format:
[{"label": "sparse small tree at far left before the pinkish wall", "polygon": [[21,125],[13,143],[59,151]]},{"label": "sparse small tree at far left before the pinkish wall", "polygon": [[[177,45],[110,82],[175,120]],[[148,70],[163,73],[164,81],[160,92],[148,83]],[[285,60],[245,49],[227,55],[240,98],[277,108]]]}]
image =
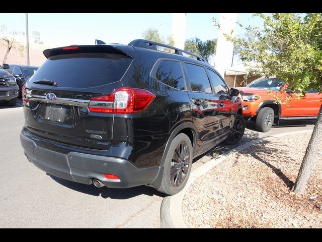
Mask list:
[{"label": "sparse small tree at far left before the pinkish wall", "polygon": [[[6,63],[8,55],[12,47],[18,47],[20,54],[23,56],[23,51],[25,50],[25,46],[18,44],[16,37],[19,35],[25,35],[24,32],[21,31],[9,31],[6,25],[2,25],[0,29],[1,40],[3,44],[7,47],[6,54],[4,56],[4,60],[2,63]],[[17,45],[18,44],[18,45]]]}]

